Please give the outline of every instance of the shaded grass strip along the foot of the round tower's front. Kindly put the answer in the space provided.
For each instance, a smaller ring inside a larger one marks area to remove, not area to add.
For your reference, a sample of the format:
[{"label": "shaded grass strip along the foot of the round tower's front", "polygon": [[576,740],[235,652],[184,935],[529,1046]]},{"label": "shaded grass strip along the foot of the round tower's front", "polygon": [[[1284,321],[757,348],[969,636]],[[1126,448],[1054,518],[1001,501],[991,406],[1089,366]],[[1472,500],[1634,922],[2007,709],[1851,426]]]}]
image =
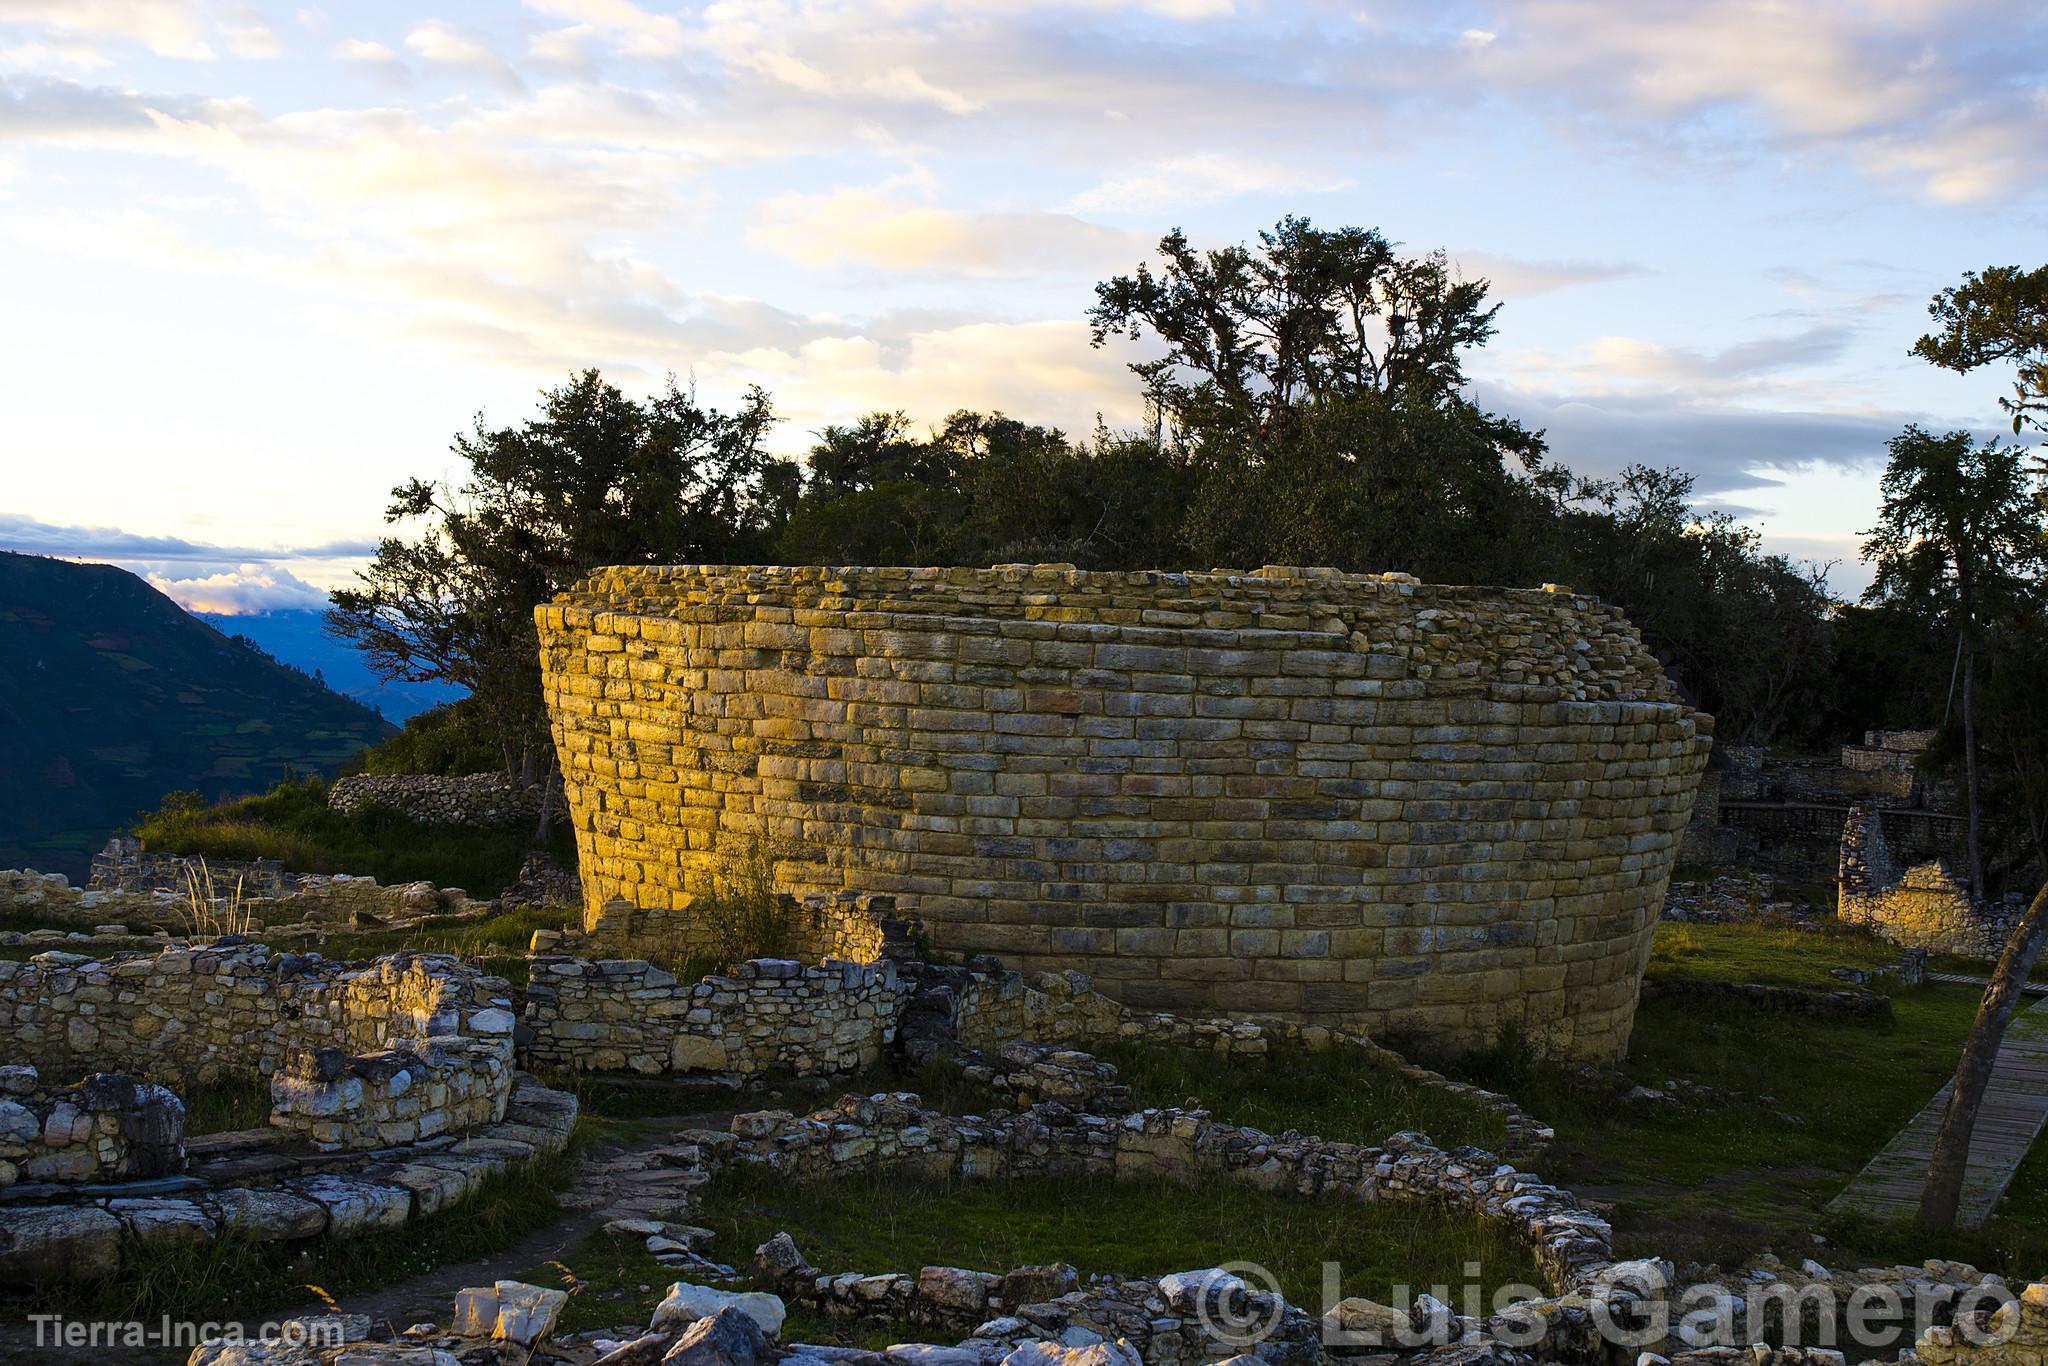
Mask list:
[{"label": "shaded grass strip along the foot of the round tower's front", "polygon": [[1440,1147],[1473,1145],[1497,1153],[1507,1141],[1501,1116],[1468,1100],[1401,1077],[1339,1049],[1280,1049],[1268,1057],[1223,1063],[1208,1049],[1102,1044],[1141,1106],[1186,1106],[1231,1124],[1268,1133],[1294,1128],[1348,1143],[1380,1143],[1405,1128]]}]

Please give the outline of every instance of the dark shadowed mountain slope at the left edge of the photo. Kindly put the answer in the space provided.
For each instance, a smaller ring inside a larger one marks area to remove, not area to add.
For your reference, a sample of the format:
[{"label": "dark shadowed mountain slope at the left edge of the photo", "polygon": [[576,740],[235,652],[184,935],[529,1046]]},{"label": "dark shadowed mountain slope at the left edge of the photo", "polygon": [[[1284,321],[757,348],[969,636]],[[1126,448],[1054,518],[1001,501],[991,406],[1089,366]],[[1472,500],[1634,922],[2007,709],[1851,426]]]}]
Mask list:
[{"label": "dark shadowed mountain slope at the left edge of the photo", "polygon": [[0,553],[0,868],[84,877],[164,793],[258,793],[389,733],[125,569]]}]

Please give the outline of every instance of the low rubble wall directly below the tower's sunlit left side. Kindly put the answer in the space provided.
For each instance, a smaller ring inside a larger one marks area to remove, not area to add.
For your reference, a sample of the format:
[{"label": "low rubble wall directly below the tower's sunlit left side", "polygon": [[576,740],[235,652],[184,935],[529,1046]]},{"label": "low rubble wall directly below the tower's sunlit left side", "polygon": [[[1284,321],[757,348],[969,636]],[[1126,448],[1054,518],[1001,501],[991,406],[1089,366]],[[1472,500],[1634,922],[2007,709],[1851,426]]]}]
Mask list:
[{"label": "low rubble wall directly below the tower's sunlit left side", "polygon": [[905,995],[887,958],[756,958],[729,977],[678,983],[637,958],[539,956],[526,1057],[567,1071],[854,1071],[895,1038]]}]

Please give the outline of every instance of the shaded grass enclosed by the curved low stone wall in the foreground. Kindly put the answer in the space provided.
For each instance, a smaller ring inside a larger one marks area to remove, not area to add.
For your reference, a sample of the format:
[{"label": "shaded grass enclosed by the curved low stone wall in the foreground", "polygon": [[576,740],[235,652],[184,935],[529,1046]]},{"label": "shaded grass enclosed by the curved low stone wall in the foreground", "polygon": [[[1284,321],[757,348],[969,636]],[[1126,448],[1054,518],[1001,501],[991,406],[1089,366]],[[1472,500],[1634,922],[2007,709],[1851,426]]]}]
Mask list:
[{"label": "shaded grass enclosed by the curved low stone wall in the foreground", "polygon": [[[1464,1286],[1464,1268],[1475,1262],[1489,1296],[1499,1286],[1530,1286],[1534,1294],[1542,1284],[1528,1249],[1477,1216],[1446,1216],[1425,1204],[1311,1200],[1231,1180],[967,1182],[874,1169],[834,1182],[791,1182],[737,1167],[698,1192],[692,1223],[717,1233],[713,1255],[733,1266],[745,1266],[758,1245],[788,1231],[823,1272],[915,1274],[924,1266],[1006,1272],[1069,1262],[1085,1278],[1253,1262],[1303,1307],[1323,1303],[1325,1264],[1339,1268],[1343,1294],[1403,1305],[1432,1286]],[[590,1282],[588,1298],[580,1294],[573,1303],[582,1327],[645,1323],[678,1276],[637,1239],[602,1233],[567,1264]],[[881,1346],[915,1341],[915,1333],[907,1325],[809,1317],[784,1337]]]}]

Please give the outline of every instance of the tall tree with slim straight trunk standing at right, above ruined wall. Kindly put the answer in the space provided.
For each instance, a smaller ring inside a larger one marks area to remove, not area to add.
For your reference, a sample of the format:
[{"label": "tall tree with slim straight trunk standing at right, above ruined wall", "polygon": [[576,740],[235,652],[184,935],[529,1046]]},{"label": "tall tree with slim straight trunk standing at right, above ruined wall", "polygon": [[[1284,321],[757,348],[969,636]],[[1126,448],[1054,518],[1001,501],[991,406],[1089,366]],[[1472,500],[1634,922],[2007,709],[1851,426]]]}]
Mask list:
[{"label": "tall tree with slim straight trunk standing at right, above ruined wall", "polygon": [[2042,557],[2040,502],[2017,449],[1978,444],[1970,432],[1933,436],[1917,426],[1890,440],[1882,489],[1878,526],[1864,543],[1864,559],[1876,567],[1864,598],[1952,623],[1968,874],[1972,891],[1985,895],[1976,659],[1985,621],[2030,594]]}]

